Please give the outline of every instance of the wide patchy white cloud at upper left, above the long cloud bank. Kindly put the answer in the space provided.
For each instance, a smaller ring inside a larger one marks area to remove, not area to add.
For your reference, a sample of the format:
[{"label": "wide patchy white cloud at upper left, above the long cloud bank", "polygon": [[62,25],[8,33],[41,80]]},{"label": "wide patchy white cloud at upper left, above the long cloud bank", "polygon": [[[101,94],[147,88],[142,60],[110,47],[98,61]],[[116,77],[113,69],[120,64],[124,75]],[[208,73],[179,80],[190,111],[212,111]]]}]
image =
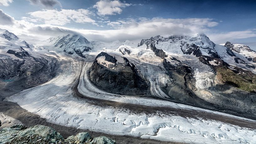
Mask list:
[{"label": "wide patchy white cloud at upper left, above the long cloud bank", "polygon": [[61,9],[60,11],[56,9],[43,9],[28,14],[30,14],[30,17],[23,17],[23,19],[31,22],[43,22],[52,25],[65,25],[71,22],[96,24],[95,20],[90,18],[92,13],[87,9]]}]

